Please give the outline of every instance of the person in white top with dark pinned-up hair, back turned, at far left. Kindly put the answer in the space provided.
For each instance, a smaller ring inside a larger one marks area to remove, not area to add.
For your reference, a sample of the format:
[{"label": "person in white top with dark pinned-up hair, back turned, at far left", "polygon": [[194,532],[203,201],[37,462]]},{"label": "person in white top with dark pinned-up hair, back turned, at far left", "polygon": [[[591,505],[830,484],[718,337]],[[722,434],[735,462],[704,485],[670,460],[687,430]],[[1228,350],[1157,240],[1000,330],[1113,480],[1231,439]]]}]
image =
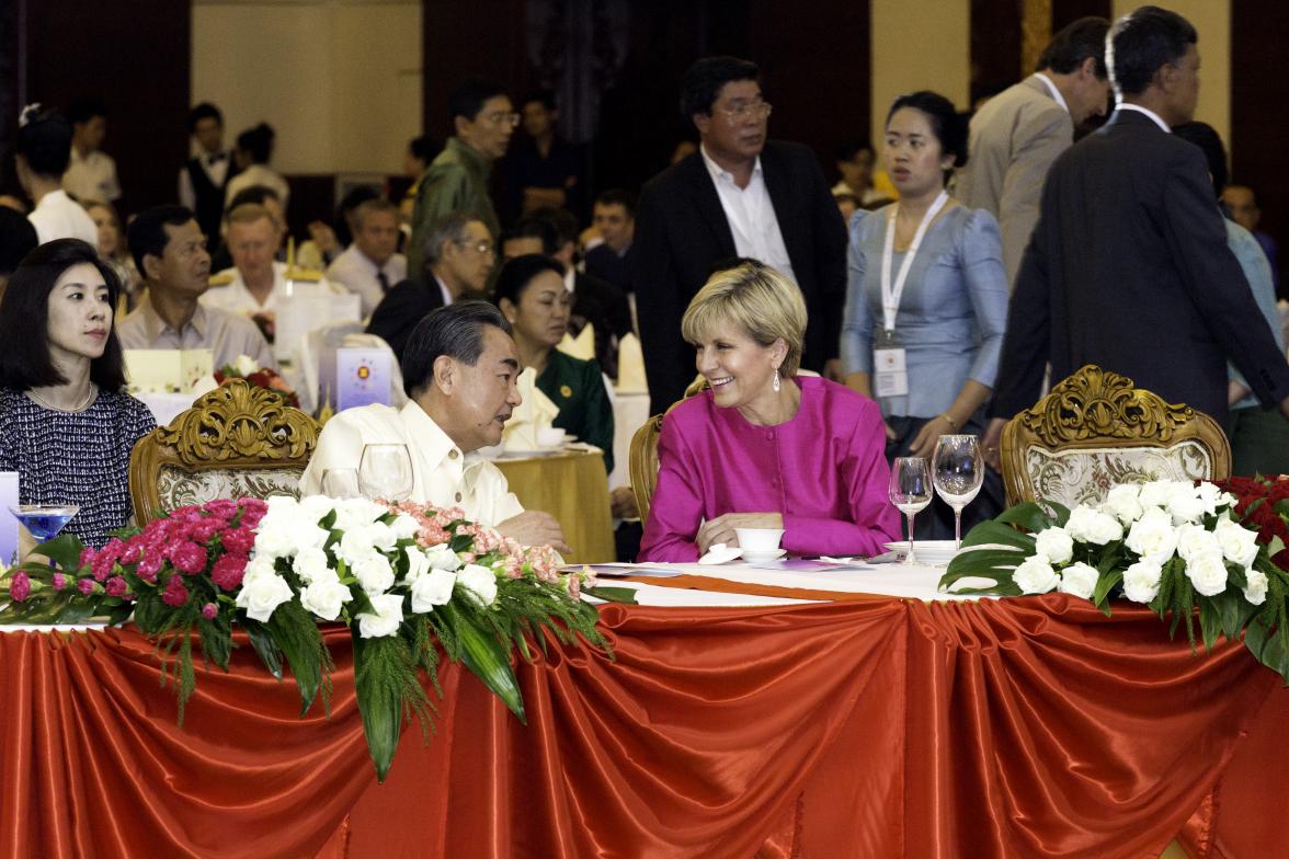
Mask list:
[{"label": "person in white top with dark pinned-up hair, back turned, at far left", "polygon": [[84,207],[63,191],[72,142],[72,126],[57,111],[32,104],[18,120],[18,182],[36,207],[27,220],[44,245],[55,238],[79,238],[98,247],[98,228]]}]

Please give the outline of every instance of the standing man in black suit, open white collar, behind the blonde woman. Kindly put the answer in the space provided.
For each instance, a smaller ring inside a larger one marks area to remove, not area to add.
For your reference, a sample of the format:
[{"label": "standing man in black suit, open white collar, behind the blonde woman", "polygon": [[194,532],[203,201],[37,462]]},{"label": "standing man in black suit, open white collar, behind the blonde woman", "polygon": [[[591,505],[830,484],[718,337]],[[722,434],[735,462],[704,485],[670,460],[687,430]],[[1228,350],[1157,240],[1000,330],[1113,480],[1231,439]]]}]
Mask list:
[{"label": "standing man in black suit, open white collar, behind the blonde woman", "polygon": [[681,111],[700,151],[644,185],[635,211],[632,281],[654,411],[684,394],[693,349],[681,317],[713,265],[744,256],[790,277],[809,325],[802,364],[835,372],[846,303],[846,225],[819,160],[803,146],[767,142],[770,104],[754,63],[700,59],[681,84]]}]

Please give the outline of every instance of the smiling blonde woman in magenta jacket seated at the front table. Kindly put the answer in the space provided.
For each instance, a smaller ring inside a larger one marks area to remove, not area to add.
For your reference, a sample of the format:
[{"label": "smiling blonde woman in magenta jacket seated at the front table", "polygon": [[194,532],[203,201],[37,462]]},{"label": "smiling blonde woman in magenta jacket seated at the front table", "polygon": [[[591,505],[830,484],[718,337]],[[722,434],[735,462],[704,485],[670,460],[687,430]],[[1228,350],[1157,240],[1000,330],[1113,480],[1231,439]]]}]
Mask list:
[{"label": "smiling blonde woman in magenta jacket seated at the front table", "polygon": [[641,560],[692,562],[735,528],[782,528],[793,555],[873,555],[898,540],[877,403],[798,376],[800,290],[754,261],[718,272],[681,322],[709,389],[663,421]]}]

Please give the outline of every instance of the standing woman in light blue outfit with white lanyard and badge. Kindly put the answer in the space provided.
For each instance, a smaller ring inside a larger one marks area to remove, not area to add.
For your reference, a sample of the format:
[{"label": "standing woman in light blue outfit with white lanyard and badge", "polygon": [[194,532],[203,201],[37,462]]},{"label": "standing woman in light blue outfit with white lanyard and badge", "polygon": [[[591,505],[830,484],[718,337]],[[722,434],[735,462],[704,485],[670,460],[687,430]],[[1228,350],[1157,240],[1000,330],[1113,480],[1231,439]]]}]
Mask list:
[{"label": "standing woman in light blue outfit with white lanyard and badge", "polygon": [[[901,95],[887,115],[883,165],[900,200],[851,220],[849,285],[842,325],[846,384],[873,397],[887,421],[887,457],[926,456],[945,434],[984,431],[1007,325],[1007,274],[998,222],[945,191],[967,160],[967,127],[931,91]],[[967,507],[969,525],[1003,506],[998,475]],[[919,537],[953,537],[936,498]]]}]

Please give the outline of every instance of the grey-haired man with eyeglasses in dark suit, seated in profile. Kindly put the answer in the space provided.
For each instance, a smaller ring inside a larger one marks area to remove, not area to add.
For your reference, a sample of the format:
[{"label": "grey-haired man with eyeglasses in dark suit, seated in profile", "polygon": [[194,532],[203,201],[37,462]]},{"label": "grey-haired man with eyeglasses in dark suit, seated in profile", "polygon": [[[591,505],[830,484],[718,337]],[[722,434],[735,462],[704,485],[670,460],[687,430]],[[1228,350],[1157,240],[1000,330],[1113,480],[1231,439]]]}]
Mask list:
[{"label": "grey-haired man with eyeglasses in dark suit, seated in profile", "polygon": [[464,211],[440,218],[425,237],[425,270],[394,286],[371,313],[367,334],[389,344],[402,361],[416,323],[458,299],[481,297],[496,261],[487,224]]}]

